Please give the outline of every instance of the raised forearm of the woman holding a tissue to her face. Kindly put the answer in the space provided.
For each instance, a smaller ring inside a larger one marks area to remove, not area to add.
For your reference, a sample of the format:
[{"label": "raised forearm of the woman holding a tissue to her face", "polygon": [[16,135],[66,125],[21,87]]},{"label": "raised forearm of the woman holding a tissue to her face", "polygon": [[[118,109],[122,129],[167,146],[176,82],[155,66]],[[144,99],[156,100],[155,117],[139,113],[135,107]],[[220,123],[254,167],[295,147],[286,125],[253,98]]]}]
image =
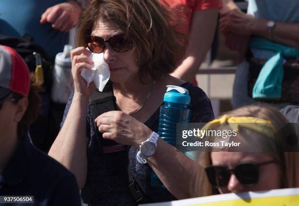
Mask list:
[{"label": "raised forearm of the woman holding a tissue to her face", "polygon": [[64,125],[48,153],[76,176],[80,188],[85,185],[87,173],[87,103],[74,94]]}]

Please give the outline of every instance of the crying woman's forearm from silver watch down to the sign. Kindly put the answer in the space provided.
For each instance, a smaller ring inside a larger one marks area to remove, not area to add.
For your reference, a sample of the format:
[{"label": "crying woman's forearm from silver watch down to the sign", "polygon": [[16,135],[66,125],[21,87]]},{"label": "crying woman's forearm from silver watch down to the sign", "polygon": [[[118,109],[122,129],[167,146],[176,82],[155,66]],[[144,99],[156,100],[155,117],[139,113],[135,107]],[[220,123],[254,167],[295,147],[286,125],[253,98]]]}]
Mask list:
[{"label": "crying woman's forearm from silver watch down to the sign", "polygon": [[159,138],[148,163],[172,195],[178,199],[192,197],[190,188],[196,168],[192,159]]}]

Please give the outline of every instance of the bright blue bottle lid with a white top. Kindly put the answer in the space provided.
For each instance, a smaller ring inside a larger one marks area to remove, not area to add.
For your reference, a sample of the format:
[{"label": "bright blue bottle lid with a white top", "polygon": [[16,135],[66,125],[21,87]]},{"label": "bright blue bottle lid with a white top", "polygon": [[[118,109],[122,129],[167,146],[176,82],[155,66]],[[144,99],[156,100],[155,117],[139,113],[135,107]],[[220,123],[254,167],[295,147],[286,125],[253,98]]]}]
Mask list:
[{"label": "bright blue bottle lid with a white top", "polygon": [[167,85],[166,88],[167,90],[163,99],[165,102],[190,105],[191,98],[188,90],[174,85]]}]

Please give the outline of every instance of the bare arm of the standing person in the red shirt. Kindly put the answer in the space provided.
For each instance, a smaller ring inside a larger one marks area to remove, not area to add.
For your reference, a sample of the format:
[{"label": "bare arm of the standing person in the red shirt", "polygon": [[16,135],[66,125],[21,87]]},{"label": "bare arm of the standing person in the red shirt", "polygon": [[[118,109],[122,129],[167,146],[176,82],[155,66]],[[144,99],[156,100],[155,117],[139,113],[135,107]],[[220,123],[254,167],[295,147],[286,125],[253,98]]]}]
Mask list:
[{"label": "bare arm of the standing person in the red shirt", "polygon": [[172,76],[192,82],[212,44],[217,16],[218,8],[196,11],[193,14],[185,56]]}]

